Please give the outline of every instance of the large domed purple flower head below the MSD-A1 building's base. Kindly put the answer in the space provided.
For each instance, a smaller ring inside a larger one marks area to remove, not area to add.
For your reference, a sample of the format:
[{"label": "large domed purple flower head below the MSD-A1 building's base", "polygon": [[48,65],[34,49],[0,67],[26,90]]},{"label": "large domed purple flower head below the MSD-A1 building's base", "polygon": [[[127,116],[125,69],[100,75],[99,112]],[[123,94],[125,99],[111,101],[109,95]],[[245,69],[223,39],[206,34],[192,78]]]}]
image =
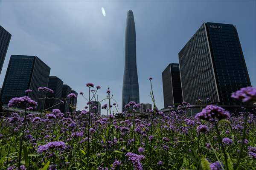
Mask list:
[{"label": "large domed purple flower head below the MSD-A1 building's base", "polygon": [[197,113],[195,115],[195,119],[203,119],[209,121],[209,119],[217,118],[219,120],[221,119],[227,119],[230,118],[230,113],[228,111],[225,111],[224,108],[221,108],[219,106],[215,105],[208,105],[206,108],[202,110],[202,112]]}]

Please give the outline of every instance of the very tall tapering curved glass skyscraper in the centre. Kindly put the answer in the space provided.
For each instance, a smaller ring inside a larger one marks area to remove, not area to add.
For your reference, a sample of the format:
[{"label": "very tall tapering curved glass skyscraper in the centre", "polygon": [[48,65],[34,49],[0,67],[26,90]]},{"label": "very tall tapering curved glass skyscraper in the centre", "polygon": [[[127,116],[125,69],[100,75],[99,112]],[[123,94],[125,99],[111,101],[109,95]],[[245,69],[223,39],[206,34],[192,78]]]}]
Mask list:
[{"label": "very tall tapering curved glass skyscraper in the centre", "polygon": [[122,87],[122,111],[128,102],[140,103],[139,83],[136,62],[136,34],[134,15],[127,12],[125,29],[125,70]]}]

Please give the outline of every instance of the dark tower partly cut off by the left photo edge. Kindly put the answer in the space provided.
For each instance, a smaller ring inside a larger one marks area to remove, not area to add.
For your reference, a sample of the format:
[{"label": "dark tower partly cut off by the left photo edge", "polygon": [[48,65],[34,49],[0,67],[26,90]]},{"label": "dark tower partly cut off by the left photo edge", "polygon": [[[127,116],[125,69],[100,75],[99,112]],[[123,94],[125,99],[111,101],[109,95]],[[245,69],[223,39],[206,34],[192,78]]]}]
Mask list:
[{"label": "dark tower partly cut off by the left photo edge", "polygon": [[12,35],[0,26],[0,74]]}]

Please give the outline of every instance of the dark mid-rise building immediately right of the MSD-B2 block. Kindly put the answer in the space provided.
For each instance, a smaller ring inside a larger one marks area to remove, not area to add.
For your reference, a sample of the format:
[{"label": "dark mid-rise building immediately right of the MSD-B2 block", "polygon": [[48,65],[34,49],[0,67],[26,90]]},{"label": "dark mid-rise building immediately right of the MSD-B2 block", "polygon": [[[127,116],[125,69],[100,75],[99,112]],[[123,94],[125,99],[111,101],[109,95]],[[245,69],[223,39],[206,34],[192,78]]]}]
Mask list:
[{"label": "dark mid-rise building immediately right of the MSD-B2 block", "polygon": [[60,100],[61,100],[62,85],[63,85],[63,81],[60,78],[56,76],[49,77],[48,88],[52,89],[54,93],[53,94],[47,93],[44,109],[50,108],[49,111],[51,111],[52,109],[60,109],[61,105],[57,105],[57,104],[60,103]]}]

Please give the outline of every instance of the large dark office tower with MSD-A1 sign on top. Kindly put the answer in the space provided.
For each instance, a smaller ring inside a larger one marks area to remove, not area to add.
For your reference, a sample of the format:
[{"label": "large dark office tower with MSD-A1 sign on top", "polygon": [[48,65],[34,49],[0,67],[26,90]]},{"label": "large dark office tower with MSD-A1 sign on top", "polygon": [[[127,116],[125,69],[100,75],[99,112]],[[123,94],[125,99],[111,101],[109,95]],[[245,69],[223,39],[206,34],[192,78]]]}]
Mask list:
[{"label": "large dark office tower with MSD-A1 sign on top", "polygon": [[204,23],[179,52],[183,100],[240,105],[233,91],[250,86],[236,26]]}]

